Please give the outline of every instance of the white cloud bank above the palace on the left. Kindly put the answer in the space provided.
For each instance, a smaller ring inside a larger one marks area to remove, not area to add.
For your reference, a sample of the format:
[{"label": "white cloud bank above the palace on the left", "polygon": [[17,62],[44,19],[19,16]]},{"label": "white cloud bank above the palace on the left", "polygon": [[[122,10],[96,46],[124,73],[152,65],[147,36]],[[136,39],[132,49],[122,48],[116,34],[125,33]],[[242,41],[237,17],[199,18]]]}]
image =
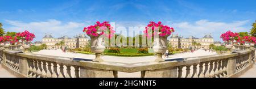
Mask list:
[{"label": "white cloud bank above the palace on the left", "polygon": [[50,19],[45,22],[20,22],[16,20],[6,20],[10,24],[7,31],[21,32],[28,30],[35,33],[36,40],[41,40],[44,33],[52,33],[54,37],[68,35],[69,37],[75,36],[78,33],[83,33],[82,29],[88,25],[85,23],[67,22],[63,23],[59,20]]}]

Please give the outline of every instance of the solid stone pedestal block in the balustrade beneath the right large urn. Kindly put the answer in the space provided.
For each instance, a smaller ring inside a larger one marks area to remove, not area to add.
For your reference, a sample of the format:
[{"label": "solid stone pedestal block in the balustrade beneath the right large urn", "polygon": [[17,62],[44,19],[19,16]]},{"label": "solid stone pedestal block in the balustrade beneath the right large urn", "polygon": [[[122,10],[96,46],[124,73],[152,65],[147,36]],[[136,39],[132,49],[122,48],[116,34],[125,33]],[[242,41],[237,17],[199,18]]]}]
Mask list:
[{"label": "solid stone pedestal block in the balustrade beneath the right large urn", "polygon": [[177,67],[144,71],[144,78],[177,78]]}]

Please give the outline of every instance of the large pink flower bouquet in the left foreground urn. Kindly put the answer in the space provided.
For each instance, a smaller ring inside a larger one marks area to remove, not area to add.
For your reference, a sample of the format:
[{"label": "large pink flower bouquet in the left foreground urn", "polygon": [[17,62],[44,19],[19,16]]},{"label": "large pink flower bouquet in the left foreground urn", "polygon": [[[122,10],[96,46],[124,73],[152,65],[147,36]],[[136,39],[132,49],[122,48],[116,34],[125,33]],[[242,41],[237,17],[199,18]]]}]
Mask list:
[{"label": "large pink flower bouquet in the left foreground urn", "polygon": [[96,22],[94,26],[84,27],[83,32],[85,32],[88,36],[101,36],[105,35],[107,37],[114,36],[113,27],[110,26],[109,22]]}]

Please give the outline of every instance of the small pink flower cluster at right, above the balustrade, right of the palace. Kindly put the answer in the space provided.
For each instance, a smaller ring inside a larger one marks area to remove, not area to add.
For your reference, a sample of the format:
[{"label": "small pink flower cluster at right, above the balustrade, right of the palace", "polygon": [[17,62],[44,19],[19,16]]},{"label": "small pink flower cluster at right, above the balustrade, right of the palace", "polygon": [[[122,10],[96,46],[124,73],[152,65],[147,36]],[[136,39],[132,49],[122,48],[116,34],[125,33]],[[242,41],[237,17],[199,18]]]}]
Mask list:
[{"label": "small pink flower cluster at right, above the balustrade, right of the palace", "polygon": [[220,38],[223,40],[223,41],[233,41],[233,40],[236,40],[236,41],[240,41],[241,38],[239,36],[238,33],[233,33],[231,31],[227,31],[226,33],[222,33]]}]

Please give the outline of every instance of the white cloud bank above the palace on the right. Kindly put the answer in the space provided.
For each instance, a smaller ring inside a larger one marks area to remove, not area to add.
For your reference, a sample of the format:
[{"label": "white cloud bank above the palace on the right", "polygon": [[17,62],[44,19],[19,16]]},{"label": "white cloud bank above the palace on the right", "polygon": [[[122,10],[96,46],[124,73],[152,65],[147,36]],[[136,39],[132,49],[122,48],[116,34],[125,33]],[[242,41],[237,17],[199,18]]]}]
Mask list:
[{"label": "white cloud bank above the palace on the right", "polygon": [[187,36],[203,37],[205,33],[212,33],[214,40],[220,41],[220,34],[228,30],[233,32],[248,32],[249,27],[246,27],[249,20],[235,21],[232,23],[225,22],[210,22],[209,20],[198,20],[196,22],[180,22],[173,23],[169,26],[175,28],[175,33]]}]

